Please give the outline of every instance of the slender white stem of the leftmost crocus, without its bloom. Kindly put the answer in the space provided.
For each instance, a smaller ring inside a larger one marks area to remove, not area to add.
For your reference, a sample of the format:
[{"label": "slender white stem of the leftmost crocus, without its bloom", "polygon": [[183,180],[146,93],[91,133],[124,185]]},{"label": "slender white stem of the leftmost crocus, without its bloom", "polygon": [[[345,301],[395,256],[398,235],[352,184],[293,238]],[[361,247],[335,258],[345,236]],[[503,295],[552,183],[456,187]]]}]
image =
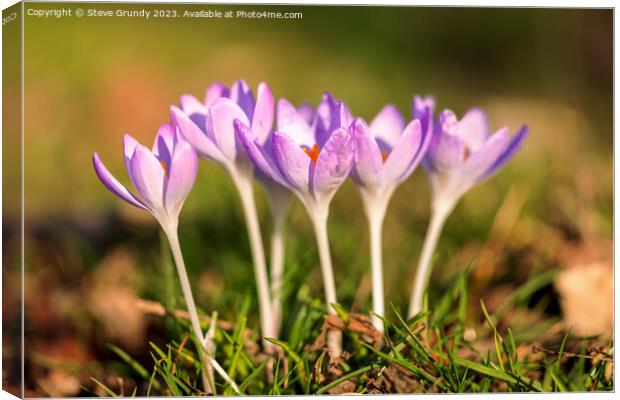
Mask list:
[{"label": "slender white stem of the leftmost crocus, without its bloom", "polygon": [[[181,253],[181,245],[179,244],[179,235],[177,233],[177,228],[176,226],[164,228],[164,232],[166,233],[166,236],[168,238],[168,243],[170,244],[170,251],[172,252],[174,263],[177,267],[177,272],[179,273],[181,289],[183,291],[183,296],[185,297],[185,303],[187,304],[187,311],[189,313],[189,319],[192,325],[192,329],[194,331],[194,335],[196,335],[198,343],[204,343],[205,337],[202,333],[202,328],[200,327],[200,320],[198,319],[196,303],[194,303],[192,288],[189,284],[187,270],[185,269],[185,261],[183,260],[183,255]],[[213,385],[213,370],[211,368],[211,357],[206,353],[206,351],[203,350],[204,349],[198,349],[198,354],[200,356],[201,362],[205,366],[205,369],[202,370],[202,384],[204,386],[205,392],[211,394],[215,393]]]}]

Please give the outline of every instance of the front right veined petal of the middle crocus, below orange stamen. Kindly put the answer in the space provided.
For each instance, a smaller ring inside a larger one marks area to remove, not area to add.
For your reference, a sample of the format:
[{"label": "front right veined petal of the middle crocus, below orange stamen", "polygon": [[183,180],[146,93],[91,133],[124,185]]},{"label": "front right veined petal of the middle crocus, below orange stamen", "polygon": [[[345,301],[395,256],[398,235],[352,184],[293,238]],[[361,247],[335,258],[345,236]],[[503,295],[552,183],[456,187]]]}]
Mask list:
[{"label": "front right veined petal of the middle crocus, below orange stamen", "polygon": [[347,179],[353,166],[355,144],[345,128],[335,130],[325,142],[312,175],[312,191],[328,201]]}]

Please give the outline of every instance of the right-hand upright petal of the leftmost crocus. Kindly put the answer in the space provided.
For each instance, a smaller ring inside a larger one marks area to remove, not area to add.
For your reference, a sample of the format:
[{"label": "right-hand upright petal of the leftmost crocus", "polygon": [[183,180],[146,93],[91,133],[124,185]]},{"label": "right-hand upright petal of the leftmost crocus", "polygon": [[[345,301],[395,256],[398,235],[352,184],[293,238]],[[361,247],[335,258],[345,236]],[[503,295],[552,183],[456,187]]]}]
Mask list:
[{"label": "right-hand upright petal of the leftmost crocus", "polygon": [[166,185],[165,205],[173,216],[181,211],[183,202],[194,186],[198,172],[198,156],[192,146],[182,140],[174,147]]}]

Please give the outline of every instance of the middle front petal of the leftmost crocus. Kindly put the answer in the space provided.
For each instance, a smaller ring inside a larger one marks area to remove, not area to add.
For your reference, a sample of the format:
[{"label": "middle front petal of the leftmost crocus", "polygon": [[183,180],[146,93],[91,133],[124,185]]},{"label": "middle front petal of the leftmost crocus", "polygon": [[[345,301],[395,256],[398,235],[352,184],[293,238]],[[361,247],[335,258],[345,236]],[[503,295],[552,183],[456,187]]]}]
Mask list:
[{"label": "middle front petal of the leftmost crocus", "polygon": [[166,174],[159,160],[149,149],[138,145],[130,166],[131,180],[143,203],[154,213],[161,213],[164,210]]}]

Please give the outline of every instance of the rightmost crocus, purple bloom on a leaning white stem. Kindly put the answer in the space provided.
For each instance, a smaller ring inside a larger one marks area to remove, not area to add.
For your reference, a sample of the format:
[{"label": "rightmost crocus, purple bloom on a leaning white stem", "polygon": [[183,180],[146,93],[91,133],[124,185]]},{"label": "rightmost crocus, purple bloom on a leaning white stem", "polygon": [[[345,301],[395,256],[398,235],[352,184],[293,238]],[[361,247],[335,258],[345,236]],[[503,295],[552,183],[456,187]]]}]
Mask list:
[{"label": "rightmost crocus, purple bloom on a leaning white stem", "polygon": [[[428,101],[418,98],[414,102],[414,116],[420,112],[416,106]],[[469,110],[460,120],[450,110],[439,115],[423,161],[432,187],[432,215],[418,261],[409,316],[422,309],[431,258],[445,220],[463,194],[492,176],[515,155],[526,135],[526,126],[512,138],[506,127],[490,134],[486,114],[478,108]]]}]

